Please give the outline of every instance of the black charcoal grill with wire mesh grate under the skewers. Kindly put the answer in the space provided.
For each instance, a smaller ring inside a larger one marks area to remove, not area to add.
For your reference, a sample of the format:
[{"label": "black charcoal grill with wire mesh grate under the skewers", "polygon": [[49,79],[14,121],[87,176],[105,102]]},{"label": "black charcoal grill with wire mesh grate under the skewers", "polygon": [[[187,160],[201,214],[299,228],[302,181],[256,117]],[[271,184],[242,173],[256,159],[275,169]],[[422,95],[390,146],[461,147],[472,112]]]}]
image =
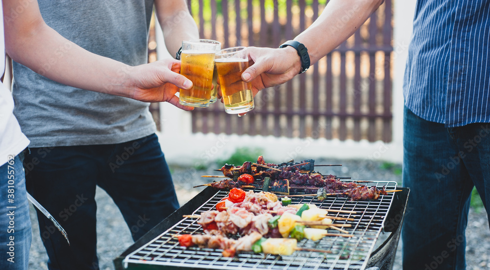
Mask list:
[{"label": "black charcoal grill with wire mesh grate under the skewers", "polygon": [[[379,181],[367,183],[386,190],[397,189],[396,182]],[[293,203],[313,203],[320,208],[353,210],[357,214],[337,213],[338,217],[354,221],[335,221],[351,224],[346,227],[353,237],[325,237],[320,241],[302,240],[299,248],[328,249],[332,253],[296,251],[291,256],[263,255],[241,252],[233,258],[221,256],[221,249],[183,248],[175,234],[198,234],[202,232],[196,218],[182,215],[199,215],[215,209],[216,203],[228,195],[227,191],[205,188],[195,198],[172,213],[167,219],[151,229],[134,245],[114,260],[117,270],[124,269],[330,269],[364,270],[392,269],[394,253],[398,244],[409,190],[389,193],[375,201],[351,202],[348,198],[328,197],[319,202],[315,197],[294,197]],[[255,189],[255,191],[258,191]],[[297,193],[301,194],[301,193]],[[330,214],[329,214],[330,215]],[[376,240],[383,231],[391,232],[388,239],[374,250]],[[373,251],[374,250],[374,251]]]}]

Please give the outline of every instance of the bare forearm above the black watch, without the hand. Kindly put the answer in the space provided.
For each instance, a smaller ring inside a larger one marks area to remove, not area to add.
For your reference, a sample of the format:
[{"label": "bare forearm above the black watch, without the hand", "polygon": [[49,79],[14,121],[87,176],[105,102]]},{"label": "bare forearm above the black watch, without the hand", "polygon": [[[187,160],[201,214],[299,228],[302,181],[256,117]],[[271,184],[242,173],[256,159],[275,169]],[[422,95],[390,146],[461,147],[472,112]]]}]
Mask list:
[{"label": "bare forearm above the black watch, without the hand", "polygon": [[311,64],[341,45],[383,0],[331,0],[319,18],[294,40],[308,48]]}]

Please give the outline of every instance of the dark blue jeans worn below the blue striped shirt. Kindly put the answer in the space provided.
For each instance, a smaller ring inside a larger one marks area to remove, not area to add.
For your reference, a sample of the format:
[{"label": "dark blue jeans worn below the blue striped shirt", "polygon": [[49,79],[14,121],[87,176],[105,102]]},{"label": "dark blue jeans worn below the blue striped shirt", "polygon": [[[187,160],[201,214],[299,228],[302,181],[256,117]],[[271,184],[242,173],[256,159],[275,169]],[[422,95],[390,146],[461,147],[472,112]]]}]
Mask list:
[{"label": "dark blue jeans worn below the blue striped shirt", "polygon": [[403,269],[463,270],[473,186],[490,213],[490,124],[445,128],[405,107],[403,125]]}]

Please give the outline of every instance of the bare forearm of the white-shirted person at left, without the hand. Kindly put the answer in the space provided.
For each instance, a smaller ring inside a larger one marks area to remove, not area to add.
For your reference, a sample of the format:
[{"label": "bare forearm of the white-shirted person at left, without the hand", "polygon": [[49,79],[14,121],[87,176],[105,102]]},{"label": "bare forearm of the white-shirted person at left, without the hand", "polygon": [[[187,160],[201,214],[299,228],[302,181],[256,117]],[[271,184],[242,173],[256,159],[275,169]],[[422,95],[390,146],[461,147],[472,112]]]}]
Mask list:
[{"label": "bare forearm of the white-shirted person at left, without the hand", "polygon": [[130,97],[132,67],[81,48],[41,21],[22,33],[5,33],[6,50],[14,61],[65,85]]}]

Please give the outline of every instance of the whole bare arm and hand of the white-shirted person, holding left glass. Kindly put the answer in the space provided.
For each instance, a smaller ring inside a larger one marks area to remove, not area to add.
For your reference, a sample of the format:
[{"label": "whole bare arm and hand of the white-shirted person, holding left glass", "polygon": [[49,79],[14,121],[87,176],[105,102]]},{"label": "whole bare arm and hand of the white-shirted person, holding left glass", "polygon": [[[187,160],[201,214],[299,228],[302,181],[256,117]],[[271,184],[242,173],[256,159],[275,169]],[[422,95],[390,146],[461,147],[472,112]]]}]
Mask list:
[{"label": "whole bare arm and hand of the white-shirted person, holding left glass", "polygon": [[[65,39],[43,20],[37,1],[3,0],[5,48],[16,62],[62,84],[184,109],[175,93],[192,82],[172,59],[131,67],[91,53]],[[12,16],[19,6],[23,12]],[[185,85],[185,86],[184,86]]]}]

